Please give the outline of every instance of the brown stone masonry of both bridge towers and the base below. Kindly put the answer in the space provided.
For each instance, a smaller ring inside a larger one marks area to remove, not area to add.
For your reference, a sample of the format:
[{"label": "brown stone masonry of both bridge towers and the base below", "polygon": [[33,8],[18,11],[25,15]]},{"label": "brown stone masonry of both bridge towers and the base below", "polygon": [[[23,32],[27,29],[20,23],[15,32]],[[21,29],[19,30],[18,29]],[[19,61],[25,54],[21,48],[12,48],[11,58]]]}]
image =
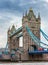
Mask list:
[{"label": "brown stone masonry of both bridge towers and the base below", "polygon": [[[32,60],[48,60],[48,54],[34,54],[29,55],[28,49],[31,45],[36,46],[38,49],[38,46],[34,43],[34,41],[31,39],[31,37],[28,35],[26,31],[26,26],[28,26],[33,34],[37,36],[40,39],[40,27],[41,27],[41,18],[40,14],[38,14],[38,17],[35,16],[32,8],[29,9],[28,12],[23,15],[22,18],[22,33],[23,33],[23,51],[24,53],[20,54],[19,52],[15,52],[15,60],[22,60],[22,61],[32,61]],[[12,53],[12,50],[15,50],[16,48],[19,48],[19,38],[16,37],[16,35],[9,37],[10,34],[14,33],[16,31],[15,26],[13,25],[11,29],[8,30],[8,48],[10,50],[10,54]],[[39,44],[40,45],[40,44]],[[16,59],[16,54],[18,55],[18,59]],[[11,58],[11,60],[13,60]]]}]

